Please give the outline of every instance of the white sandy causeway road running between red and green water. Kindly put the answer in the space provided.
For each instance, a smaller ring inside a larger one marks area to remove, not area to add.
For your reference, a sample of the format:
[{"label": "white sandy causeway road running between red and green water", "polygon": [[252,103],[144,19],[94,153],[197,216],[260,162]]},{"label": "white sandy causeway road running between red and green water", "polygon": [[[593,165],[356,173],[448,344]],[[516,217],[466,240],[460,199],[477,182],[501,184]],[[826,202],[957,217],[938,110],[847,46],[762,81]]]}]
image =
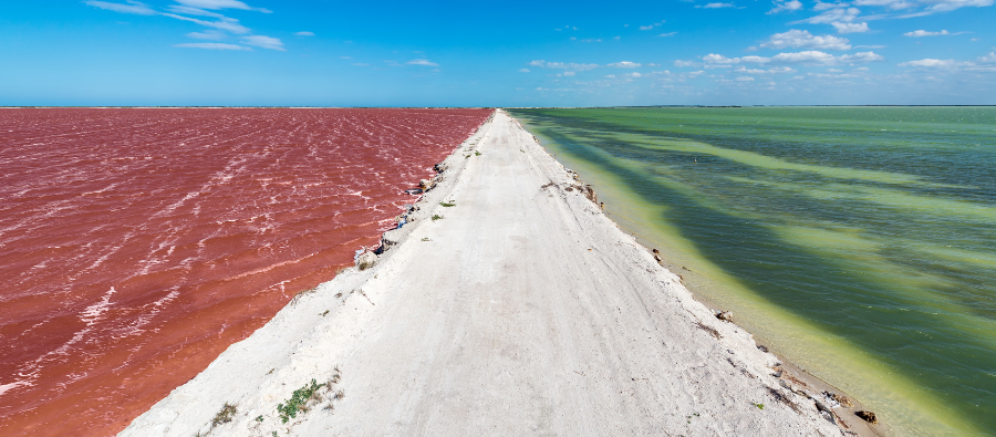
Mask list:
[{"label": "white sandy causeway road running between red and green water", "polygon": [[122,435],[841,435],[504,112],[445,163],[373,268]]}]

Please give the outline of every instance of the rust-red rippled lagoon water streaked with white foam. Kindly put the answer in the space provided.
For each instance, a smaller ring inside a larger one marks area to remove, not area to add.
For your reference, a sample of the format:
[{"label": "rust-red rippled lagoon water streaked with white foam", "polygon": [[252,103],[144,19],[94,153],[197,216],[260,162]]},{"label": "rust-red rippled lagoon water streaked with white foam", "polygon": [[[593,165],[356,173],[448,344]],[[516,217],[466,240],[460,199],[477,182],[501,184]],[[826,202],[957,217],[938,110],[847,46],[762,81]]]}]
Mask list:
[{"label": "rust-red rippled lagoon water streaked with white foam", "polygon": [[111,435],[373,246],[487,110],[0,110],[0,435]]}]

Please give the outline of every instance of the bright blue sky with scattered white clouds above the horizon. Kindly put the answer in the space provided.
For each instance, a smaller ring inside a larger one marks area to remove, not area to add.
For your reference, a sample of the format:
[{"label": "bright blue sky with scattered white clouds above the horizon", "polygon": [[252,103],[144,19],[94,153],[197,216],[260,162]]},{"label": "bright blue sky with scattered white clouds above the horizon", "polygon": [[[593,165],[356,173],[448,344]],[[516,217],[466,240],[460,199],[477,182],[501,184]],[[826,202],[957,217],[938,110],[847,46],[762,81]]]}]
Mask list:
[{"label": "bright blue sky with scattered white clouds above the horizon", "polygon": [[996,104],[993,1],[7,0],[0,105]]}]

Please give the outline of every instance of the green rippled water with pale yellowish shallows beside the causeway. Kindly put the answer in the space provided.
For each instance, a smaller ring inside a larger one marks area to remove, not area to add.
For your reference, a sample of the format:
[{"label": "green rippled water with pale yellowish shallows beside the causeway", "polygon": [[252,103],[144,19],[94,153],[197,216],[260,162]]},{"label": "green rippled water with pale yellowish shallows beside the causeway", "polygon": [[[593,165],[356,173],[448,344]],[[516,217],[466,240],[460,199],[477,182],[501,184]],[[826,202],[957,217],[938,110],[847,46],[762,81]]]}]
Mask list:
[{"label": "green rippled water with pale yellowish shallows beside the causeway", "polygon": [[996,107],[511,110],[708,304],[900,435],[996,435]]}]

